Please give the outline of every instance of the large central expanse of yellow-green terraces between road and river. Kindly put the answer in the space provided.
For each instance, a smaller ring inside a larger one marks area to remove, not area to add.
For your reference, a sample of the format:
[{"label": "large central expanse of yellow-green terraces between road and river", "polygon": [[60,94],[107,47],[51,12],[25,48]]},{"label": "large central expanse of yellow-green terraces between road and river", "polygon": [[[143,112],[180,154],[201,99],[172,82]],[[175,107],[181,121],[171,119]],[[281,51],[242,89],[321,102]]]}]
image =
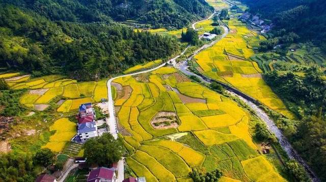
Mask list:
[{"label": "large central expanse of yellow-green terraces between road and river", "polygon": [[[228,98],[180,77],[174,68],[162,67],[113,81],[115,105],[124,98],[117,116],[129,133],[122,134],[129,168],[150,181],[192,181],[188,173],[193,168],[220,169],[222,181],[250,181],[264,175],[259,172],[253,177],[242,163],[261,158],[256,165],[283,181],[273,164],[256,152],[249,114]],[[180,95],[199,100],[185,103]],[[151,121],[162,112],[175,113],[176,124],[160,114],[161,127],[154,129]]]}]

